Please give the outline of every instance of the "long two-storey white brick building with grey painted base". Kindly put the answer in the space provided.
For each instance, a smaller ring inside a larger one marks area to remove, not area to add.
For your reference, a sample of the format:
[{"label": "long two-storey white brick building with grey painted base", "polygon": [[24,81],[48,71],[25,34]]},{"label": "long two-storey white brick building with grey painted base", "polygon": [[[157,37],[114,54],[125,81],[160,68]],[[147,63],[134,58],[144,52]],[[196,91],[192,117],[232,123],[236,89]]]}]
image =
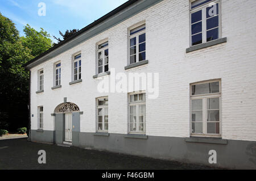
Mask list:
[{"label": "long two-storey white brick building with grey painted base", "polygon": [[[206,165],[216,150],[214,166],[256,169],[255,9],[253,0],[118,7],[26,65],[31,141]],[[133,92],[100,93],[111,70],[159,73],[158,98],[135,90],[145,97],[133,104]],[[61,109],[69,103],[77,107]]]}]

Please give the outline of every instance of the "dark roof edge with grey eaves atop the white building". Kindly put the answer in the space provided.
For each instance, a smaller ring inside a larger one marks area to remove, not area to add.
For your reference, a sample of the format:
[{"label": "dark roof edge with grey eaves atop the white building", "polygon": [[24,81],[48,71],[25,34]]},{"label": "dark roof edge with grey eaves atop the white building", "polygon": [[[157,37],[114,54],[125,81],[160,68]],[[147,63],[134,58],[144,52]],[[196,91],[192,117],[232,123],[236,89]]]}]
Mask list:
[{"label": "dark roof edge with grey eaves atop the white building", "polygon": [[[114,25],[122,22],[123,20],[130,18],[131,16],[138,14],[139,12],[155,5],[163,0],[130,0],[123,5],[117,7],[108,14],[102,16],[100,19],[95,20],[93,23],[82,28],[80,31],[69,37],[68,39],[61,41],[59,44],[48,49],[46,52],[35,57],[31,61],[28,61],[24,66],[27,69],[31,69],[36,65],[42,64],[42,62],[49,60],[57,56],[60,53],[65,52],[82,41],[88,40],[90,37],[96,36],[98,33],[108,30]],[[107,23],[105,23],[107,22]]]}]

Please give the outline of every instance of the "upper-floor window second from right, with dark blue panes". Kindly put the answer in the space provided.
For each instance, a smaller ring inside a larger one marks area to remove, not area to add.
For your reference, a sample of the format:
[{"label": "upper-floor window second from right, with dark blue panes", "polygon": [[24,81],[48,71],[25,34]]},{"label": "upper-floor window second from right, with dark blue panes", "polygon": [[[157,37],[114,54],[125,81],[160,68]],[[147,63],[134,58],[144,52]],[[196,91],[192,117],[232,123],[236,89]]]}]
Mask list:
[{"label": "upper-floor window second from right, with dark blue panes", "polygon": [[146,60],[146,25],[130,30],[130,64]]}]

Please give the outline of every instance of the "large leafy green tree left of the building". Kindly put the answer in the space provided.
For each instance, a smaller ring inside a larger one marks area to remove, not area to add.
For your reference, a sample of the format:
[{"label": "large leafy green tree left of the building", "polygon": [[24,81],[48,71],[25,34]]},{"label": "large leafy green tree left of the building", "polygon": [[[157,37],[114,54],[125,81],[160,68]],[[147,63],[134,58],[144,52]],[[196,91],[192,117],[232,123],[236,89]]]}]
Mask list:
[{"label": "large leafy green tree left of the building", "polygon": [[0,13],[0,129],[27,127],[29,74],[23,65],[52,45],[43,29],[27,24],[24,32],[20,37],[15,24]]}]

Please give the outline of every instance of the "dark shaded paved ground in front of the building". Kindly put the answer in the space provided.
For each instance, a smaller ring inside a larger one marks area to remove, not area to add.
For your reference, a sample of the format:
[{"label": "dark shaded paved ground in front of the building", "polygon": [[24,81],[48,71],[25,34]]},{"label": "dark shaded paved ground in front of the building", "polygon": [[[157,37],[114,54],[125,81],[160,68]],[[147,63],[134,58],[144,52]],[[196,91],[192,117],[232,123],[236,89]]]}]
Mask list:
[{"label": "dark shaded paved ground in front of the building", "polygon": [[[46,151],[46,164],[38,163],[38,151]],[[7,169],[101,169],[101,170],[169,170],[212,169],[159,159],[136,157],[105,151],[65,148],[28,142],[27,138],[0,140],[0,170]]]}]

